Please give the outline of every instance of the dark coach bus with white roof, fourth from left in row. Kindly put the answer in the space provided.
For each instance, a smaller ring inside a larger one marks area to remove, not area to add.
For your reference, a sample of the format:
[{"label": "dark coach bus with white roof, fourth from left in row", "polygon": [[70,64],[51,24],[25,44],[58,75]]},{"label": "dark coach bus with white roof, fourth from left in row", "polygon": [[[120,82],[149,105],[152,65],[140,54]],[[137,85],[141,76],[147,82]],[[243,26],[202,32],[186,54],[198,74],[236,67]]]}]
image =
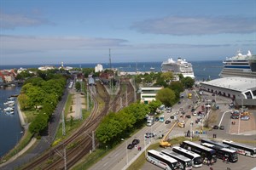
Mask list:
[{"label": "dark coach bus with white roof, fourth from left in row", "polygon": [[183,141],[182,144],[180,144],[180,147],[194,151],[195,153],[201,155],[202,159],[209,160],[211,162],[216,162],[216,151],[212,150],[210,148],[207,148],[206,146],[203,146],[201,144],[196,144],[194,142],[190,142],[189,140]]}]

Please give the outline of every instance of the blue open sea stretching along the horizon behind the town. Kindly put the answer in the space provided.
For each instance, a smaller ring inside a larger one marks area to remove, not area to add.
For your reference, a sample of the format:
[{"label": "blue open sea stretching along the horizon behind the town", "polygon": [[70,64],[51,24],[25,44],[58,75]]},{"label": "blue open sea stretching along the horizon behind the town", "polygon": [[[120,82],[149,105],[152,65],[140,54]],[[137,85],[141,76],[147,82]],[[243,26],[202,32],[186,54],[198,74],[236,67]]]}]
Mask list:
[{"label": "blue open sea stretching along the horizon behind the town", "polygon": [[[218,74],[223,69],[222,61],[191,61],[195,74],[195,80],[207,80],[207,78],[216,79]],[[89,64],[67,64],[65,66],[78,67],[78,68],[94,68],[98,63]],[[103,68],[109,68],[108,63],[101,63]],[[19,69],[23,68],[38,68],[42,65],[0,65],[0,70],[3,69]],[[57,67],[61,65],[55,65]],[[119,71],[150,71],[151,67],[154,71],[161,70],[161,62],[137,62],[137,63],[113,63],[113,68],[119,69]],[[152,70],[151,70],[152,71]]]}]

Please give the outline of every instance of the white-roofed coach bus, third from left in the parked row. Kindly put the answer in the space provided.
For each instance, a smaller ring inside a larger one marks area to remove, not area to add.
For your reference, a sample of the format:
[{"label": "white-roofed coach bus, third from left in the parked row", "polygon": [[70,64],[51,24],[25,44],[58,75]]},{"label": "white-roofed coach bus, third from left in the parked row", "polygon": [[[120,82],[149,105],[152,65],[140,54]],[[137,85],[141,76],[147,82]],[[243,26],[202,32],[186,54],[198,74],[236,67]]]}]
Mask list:
[{"label": "white-roofed coach bus, third from left in the parked row", "polygon": [[189,151],[189,150],[185,150],[181,147],[178,146],[173,146],[172,151],[176,152],[179,155],[185,156],[187,158],[189,158],[190,160],[192,160],[192,166],[193,167],[201,167],[202,166],[202,159],[201,156]]}]

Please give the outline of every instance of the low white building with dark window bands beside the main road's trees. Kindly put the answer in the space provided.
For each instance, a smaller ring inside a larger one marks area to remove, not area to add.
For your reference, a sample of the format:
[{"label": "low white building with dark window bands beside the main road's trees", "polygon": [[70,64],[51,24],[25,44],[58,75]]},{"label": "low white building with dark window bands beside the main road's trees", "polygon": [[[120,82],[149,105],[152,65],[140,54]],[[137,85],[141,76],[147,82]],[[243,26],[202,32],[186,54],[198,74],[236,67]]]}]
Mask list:
[{"label": "low white building with dark window bands beside the main road's trees", "polygon": [[141,103],[148,104],[155,100],[157,92],[163,87],[143,87],[141,90]]}]

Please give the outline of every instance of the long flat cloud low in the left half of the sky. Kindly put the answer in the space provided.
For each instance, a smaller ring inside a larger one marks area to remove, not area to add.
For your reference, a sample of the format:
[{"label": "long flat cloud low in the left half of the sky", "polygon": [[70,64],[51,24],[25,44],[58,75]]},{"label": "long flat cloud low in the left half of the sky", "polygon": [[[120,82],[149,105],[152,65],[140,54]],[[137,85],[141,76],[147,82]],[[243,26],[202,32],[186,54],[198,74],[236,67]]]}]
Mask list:
[{"label": "long flat cloud low in the left half of the sky", "polygon": [[125,40],[114,38],[27,37],[8,35],[0,35],[0,37],[3,54],[109,48],[123,46],[122,43],[126,42]]}]

